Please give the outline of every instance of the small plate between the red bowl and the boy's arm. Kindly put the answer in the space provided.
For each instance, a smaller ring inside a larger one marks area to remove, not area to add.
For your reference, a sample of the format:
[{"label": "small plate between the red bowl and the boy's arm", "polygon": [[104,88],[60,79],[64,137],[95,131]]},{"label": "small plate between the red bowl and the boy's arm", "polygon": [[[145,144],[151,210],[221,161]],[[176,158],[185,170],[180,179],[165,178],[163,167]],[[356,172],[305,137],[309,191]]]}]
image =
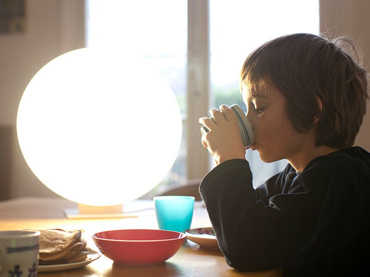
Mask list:
[{"label": "small plate between the red bowl and the boy's arm", "polygon": [[189,229],[185,231],[187,239],[209,249],[219,249],[212,227]]}]

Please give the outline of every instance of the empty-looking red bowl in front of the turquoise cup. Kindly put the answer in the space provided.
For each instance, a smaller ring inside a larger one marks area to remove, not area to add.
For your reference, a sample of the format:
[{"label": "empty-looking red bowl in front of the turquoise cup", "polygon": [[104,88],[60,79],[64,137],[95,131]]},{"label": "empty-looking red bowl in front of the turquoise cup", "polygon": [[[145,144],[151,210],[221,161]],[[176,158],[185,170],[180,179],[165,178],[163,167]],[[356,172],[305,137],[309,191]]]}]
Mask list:
[{"label": "empty-looking red bowl in front of the turquoise cup", "polygon": [[92,236],[99,250],[114,262],[128,265],[163,263],[180,249],[186,235],[165,230],[114,230]]}]

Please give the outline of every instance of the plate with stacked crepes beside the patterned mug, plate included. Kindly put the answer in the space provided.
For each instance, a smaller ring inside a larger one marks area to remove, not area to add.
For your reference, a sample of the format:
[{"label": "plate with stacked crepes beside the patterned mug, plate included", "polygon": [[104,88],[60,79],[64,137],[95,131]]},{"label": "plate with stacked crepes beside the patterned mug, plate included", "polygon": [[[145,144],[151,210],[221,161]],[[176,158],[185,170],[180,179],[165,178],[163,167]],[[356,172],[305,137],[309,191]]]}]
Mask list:
[{"label": "plate with stacked crepes beside the patterned mug, plate included", "polygon": [[82,230],[31,229],[40,232],[38,272],[82,267],[101,254],[91,250]]}]

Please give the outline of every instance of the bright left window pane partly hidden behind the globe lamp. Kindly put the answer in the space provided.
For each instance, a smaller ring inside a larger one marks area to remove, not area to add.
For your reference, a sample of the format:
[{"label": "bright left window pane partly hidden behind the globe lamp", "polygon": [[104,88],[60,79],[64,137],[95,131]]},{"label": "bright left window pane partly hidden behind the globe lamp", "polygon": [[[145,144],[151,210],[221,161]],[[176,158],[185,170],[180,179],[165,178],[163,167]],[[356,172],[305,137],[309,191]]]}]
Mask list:
[{"label": "bright left window pane partly hidden behind the globe lamp", "polygon": [[[186,115],[186,0],[87,0],[86,46],[110,45],[122,49],[133,47],[142,54],[166,79],[176,95],[181,113]],[[137,84],[143,89],[150,88],[150,84],[146,83],[146,74],[150,72],[143,70],[143,82]],[[137,103],[140,103],[140,95]],[[183,126],[183,130],[186,130],[186,126]],[[186,137],[183,132],[177,160],[164,183],[186,177]],[[148,159],[151,158],[150,147]]]}]

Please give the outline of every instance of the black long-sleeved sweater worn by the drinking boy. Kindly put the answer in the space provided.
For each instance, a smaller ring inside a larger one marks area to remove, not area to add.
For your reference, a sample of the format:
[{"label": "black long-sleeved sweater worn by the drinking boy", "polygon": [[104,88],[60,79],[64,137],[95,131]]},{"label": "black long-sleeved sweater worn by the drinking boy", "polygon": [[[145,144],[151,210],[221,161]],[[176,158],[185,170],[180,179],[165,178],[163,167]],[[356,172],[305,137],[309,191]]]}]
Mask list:
[{"label": "black long-sleeved sweater worn by the drinking boy", "polygon": [[316,157],[298,176],[288,164],[257,189],[248,161],[227,160],[204,177],[200,193],[237,270],[356,276],[370,266],[369,188],[370,153],[351,147]]}]

